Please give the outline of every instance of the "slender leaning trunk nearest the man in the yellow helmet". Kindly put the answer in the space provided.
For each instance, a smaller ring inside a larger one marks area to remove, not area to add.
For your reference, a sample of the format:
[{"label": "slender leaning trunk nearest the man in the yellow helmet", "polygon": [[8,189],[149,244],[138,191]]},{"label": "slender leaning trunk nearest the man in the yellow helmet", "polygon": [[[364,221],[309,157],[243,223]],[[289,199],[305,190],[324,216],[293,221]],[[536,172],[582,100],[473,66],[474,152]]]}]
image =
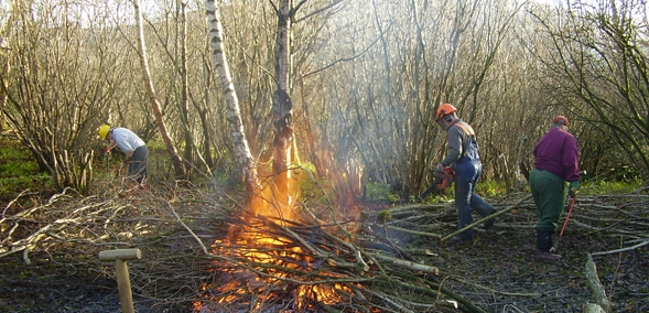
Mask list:
[{"label": "slender leaning trunk nearest the man in the yellow helmet", "polygon": [[147,86],[147,91],[149,94],[149,101],[155,114],[155,123],[158,125],[158,130],[160,130],[160,136],[162,137],[162,141],[164,141],[164,145],[166,147],[166,151],[171,156],[171,162],[175,170],[176,177],[186,177],[185,166],[183,164],[183,160],[176,152],[176,148],[173,144],[173,140],[166,130],[166,126],[164,125],[164,120],[162,119],[162,110],[160,109],[160,104],[158,102],[158,97],[155,96],[155,89],[153,89],[153,83],[151,80],[151,73],[149,71],[149,63],[147,61],[147,46],[144,44],[144,28],[142,22],[142,12],[140,12],[140,0],[133,1],[133,7],[136,8],[136,19],[138,19],[138,30],[140,32],[139,36],[139,48],[140,48],[140,63],[142,65],[142,74],[144,76],[144,85]]}]

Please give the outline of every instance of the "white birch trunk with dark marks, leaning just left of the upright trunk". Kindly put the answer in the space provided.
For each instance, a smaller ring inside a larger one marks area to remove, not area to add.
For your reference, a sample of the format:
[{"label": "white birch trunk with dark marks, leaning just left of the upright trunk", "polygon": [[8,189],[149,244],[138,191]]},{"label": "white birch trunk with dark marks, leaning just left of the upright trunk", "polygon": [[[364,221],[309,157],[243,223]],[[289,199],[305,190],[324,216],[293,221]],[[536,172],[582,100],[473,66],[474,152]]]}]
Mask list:
[{"label": "white birch trunk with dark marks, leaning just left of the upright trunk", "polygon": [[212,51],[214,54],[214,63],[216,64],[216,72],[220,79],[220,87],[224,91],[226,101],[226,110],[230,131],[232,132],[232,141],[235,145],[235,154],[237,164],[242,171],[246,188],[252,192],[258,188],[257,168],[248,141],[246,140],[244,131],[244,122],[241,121],[241,110],[239,108],[239,99],[225,55],[225,48],[221,37],[220,13],[215,0],[205,1],[205,10],[207,12],[207,23],[209,26],[209,41],[212,43]]}]

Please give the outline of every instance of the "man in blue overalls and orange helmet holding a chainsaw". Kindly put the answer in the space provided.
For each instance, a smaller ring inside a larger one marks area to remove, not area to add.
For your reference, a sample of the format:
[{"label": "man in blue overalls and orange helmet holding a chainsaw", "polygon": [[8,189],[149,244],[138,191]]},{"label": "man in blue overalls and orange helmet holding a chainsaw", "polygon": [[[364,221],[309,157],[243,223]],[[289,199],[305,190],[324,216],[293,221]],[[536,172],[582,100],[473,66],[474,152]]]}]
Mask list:
[{"label": "man in blue overalls and orange helmet holding a chainsaw", "polygon": [[[455,208],[462,229],[473,223],[472,209],[483,217],[487,217],[496,209],[474,193],[483,174],[483,163],[473,128],[459,119],[456,112],[457,109],[450,104],[443,104],[437,108],[435,120],[447,132],[448,154],[437,163],[435,170],[446,172],[446,168],[450,166],[455,171]],[[490,219],[484,226],[488,229],[493,224],[494,219]],[[461,233],[455,240],[473,240],[472,230]]]}]

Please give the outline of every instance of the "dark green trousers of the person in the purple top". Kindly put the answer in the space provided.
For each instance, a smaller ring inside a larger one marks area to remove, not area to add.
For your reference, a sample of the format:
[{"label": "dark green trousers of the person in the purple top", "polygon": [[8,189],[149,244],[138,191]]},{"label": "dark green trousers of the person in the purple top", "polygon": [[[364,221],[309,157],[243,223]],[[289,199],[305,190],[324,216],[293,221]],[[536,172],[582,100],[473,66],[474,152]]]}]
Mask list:
[{"label": "dark green trousers of the person in the purple top", "polygon": [[553,233],[565,206],[567,182],[548,171],[533,169],[530,188],[539,217],[538,229]]}]

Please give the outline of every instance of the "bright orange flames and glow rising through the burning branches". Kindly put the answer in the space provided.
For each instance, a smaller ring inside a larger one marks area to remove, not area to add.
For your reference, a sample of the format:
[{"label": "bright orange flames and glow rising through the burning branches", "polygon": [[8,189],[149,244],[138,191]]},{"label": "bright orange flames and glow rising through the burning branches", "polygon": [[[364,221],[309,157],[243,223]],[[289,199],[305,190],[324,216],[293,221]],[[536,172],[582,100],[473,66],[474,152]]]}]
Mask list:
[{"label": "bright orange flames and glow rising through the burning branches", "polygon": [[246,301],[250,302],[248,307],[253,311],[273,299],[292,298],[293,310],[299,312],[314,310],[314,302],[335,304],[351,301],[351,289],[342,283],[307,281],[309,278],[304,277],[310,276],[306,273],[332,279],[340,277],[317,270],[314,256],[304,252],[292,239],[266,231],[267,226],[259,222],[259,217],[272,218],[286,226],[286,222],[299,220],[299,212],[294,209],[298,183],[289,174],[275,176],[273,183],[250,199],[249,211],[246,212],[248,225],[231,227],[226,239],[214,242],[215,255],[246,259],[249,267],[215,261],[213,266],[221,279],[230,280],[219,287],[202,287],[205,300],[194,302],[195,312],[213,312],[207,307],[209,303],[246,304],[241,303],[242,299],[250,298],[250,294],[255,294],[256,302]]}]

